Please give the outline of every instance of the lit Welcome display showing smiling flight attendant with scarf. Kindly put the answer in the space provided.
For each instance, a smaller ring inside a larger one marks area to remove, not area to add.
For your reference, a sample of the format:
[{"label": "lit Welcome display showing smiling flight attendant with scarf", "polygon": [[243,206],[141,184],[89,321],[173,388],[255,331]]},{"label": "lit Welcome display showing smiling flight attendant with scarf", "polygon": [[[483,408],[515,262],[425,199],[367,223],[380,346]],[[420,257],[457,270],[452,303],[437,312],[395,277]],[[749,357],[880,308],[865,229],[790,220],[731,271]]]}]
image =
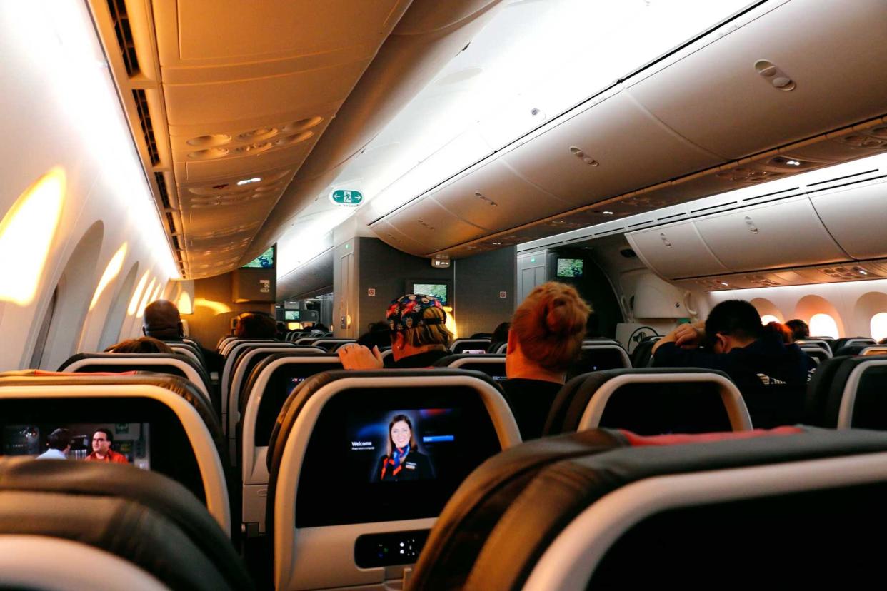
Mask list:
[{"label": "lit Welcome display showing smiling flight attendant with scarf", "polygon": [[459,445],[458,415],[455,408],[413,408],[351,416],[352,475],[369,482],[437,478]]}]

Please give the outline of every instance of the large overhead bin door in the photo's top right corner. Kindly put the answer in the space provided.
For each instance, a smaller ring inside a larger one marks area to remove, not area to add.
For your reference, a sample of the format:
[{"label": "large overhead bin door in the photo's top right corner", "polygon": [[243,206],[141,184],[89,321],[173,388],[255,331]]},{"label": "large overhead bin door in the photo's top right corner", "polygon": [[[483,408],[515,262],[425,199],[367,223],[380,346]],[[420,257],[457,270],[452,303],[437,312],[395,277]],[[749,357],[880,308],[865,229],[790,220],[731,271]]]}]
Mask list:
[{"label": "large overhead bin door in the photo's top right corner", "polygon": [[885,63],[882,0],[844,2],[839,10],[792,0],[627,91],[694,144],[739,159],[882,115]]}]

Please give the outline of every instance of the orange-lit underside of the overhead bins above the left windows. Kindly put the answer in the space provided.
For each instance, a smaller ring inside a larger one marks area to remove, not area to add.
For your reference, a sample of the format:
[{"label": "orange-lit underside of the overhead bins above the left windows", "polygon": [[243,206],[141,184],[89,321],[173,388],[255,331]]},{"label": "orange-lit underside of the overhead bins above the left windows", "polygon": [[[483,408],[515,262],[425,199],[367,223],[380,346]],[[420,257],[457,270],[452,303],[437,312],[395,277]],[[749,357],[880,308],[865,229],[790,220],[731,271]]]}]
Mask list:
[{"label": "orange-lit underside of the overhead bins above the left windows", "polygon": [[237,265],[410,2],[155,0],[153,27],[131,19],[190,277]]}]

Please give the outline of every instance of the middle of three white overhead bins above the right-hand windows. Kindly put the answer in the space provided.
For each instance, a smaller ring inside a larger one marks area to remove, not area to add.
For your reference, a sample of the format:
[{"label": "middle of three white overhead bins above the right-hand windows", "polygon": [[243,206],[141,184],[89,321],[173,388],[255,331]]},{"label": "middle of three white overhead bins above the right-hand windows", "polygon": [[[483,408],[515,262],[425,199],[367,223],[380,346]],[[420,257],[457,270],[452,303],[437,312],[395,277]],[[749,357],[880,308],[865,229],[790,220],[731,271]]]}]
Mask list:
[{"label": "middle of three white overhead bins above the right-hand windows", "polygon": [[844,261],[805,195],[694,220],[711,253],[733,271]]}]

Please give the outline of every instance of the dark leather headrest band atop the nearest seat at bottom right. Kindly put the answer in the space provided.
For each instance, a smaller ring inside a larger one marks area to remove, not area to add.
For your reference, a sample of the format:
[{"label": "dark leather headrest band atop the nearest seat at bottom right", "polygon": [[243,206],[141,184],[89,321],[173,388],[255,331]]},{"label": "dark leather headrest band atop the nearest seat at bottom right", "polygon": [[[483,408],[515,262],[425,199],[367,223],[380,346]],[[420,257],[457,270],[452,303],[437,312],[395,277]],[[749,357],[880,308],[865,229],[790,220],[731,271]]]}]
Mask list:
[{"label": "dark leather headrest band atop the nearest seat at bottom right", "polygon": [[615,449],[553,463],[538,473],[499,520],[477,557],[467,587],[521,588],[539,557],[573,517],[632,482],[884,451],[887,433],[812,430],[703,446]]}]

